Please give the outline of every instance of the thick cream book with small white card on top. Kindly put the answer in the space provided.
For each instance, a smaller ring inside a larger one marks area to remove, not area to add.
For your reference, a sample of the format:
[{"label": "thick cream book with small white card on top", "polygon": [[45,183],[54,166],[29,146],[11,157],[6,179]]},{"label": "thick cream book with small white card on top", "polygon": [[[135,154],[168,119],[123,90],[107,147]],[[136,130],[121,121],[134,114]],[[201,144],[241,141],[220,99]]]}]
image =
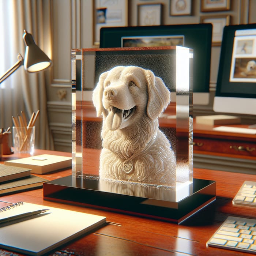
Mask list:
[{"label": "thick cream book with small white card on top", "polygon": [[25,157],[10,161],[5,161],[5,165],[30,168],[31,173],[45,174],[56,170],[68,168],[72,166],[71,157],[62,157],[59,155],[37,155],[33,157]]}]

